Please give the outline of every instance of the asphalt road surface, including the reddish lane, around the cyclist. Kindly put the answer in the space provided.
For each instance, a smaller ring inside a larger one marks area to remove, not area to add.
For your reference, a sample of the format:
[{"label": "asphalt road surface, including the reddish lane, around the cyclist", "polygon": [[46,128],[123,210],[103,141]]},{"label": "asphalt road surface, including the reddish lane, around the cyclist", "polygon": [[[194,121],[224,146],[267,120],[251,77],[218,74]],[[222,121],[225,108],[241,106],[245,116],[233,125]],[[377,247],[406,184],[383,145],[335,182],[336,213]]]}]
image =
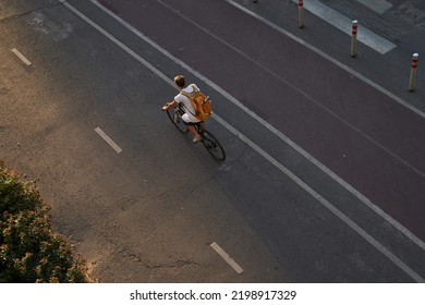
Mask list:
[{"label": "asphalt road surface, including the reddish lane, around the cyclist", "polygon": [[[228,1],[194,2],[0,5],[0,157],[39,181],[92,277],[424,281],[424,91],[406,93],[397,72],[415,44],[405,33],[424,37],[421,23],[404,21],[392,37],[382,26],[398,47],[382,56],[361,46],[353,61],[326,22],[307,14],[300,32],[292,1],[238,1],[260,19]],[[401,7],[379,22],[396,15]],[[159,110],[180,73],[215,100],[208,129],[226,162]]]}]

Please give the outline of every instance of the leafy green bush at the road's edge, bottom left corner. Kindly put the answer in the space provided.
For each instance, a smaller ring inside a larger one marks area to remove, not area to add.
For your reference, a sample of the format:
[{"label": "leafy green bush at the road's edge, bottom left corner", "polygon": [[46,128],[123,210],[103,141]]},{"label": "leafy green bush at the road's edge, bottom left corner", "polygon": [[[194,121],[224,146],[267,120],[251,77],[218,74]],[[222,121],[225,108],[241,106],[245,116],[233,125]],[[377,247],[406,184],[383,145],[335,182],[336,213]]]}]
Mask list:
[{"label": "leafy green bush at the road's edge, bottom left corner", "polygon": [[34,182],[0,161],[0,282],[86,282],[85,265],[51,231]]}]

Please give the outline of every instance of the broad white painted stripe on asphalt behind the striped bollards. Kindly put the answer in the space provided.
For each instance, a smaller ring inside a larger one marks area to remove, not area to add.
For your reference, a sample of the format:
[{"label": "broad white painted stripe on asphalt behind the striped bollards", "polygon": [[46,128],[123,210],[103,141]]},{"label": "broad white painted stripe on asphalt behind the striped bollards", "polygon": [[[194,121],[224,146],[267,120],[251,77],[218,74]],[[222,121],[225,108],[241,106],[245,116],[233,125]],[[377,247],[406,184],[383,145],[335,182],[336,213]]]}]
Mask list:
[{"label": "broad white painted stripe on asphalt behind the striped bollards", "polygon": [[[298,0],[292,1],[296,3],[299,2]],[[327,23],[341,29],[343,33],[351,35],[351,27],[353,22],[352,19],[349,19],[348,16],[337,12],[318,0],[305,1],[304,8]],[[359,24],[357,40],[381,54],[385,54],[397,47],[391,41],[362,26],[361,22]]]}]

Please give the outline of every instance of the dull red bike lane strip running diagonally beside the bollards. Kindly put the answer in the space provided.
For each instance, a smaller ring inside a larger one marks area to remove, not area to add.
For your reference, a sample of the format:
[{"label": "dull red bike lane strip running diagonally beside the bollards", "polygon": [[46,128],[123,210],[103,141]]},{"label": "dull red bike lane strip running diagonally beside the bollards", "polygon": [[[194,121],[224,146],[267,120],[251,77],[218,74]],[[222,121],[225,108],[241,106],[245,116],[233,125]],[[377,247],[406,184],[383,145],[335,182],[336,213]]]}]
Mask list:
[{"label": "dull red bike lane strip running diagonally beside the bollards", "polygon": [[224,1],[99,2],[425,240],[425,119]]}]

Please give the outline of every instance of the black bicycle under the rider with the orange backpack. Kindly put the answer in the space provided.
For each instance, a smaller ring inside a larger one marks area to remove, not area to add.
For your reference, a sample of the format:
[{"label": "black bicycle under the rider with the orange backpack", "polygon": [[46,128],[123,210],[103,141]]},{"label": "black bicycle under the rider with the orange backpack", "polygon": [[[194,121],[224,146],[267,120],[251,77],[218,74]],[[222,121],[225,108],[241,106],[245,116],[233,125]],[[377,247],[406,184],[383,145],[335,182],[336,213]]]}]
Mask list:
[{"label": "black bicycle under the rider with the orange backpack", "polygon": [[[166,110],[168,118],[171,120],[173,125],[181,132],[181,133],[187,133],[187,127],[183,123],[182,115],[184,114],[184,110],[182,109],[182,106],[179,105],[175,108],[170,108]],[[226,152],[222,148],[221,144],[218,142],[218,139],[207,130],[201,127],[201,122],[194,124],[197,133],[201,135],[205,149],[208,150],[208,152],[216,158],[219,161],[223,161],[226,159]]]}]

